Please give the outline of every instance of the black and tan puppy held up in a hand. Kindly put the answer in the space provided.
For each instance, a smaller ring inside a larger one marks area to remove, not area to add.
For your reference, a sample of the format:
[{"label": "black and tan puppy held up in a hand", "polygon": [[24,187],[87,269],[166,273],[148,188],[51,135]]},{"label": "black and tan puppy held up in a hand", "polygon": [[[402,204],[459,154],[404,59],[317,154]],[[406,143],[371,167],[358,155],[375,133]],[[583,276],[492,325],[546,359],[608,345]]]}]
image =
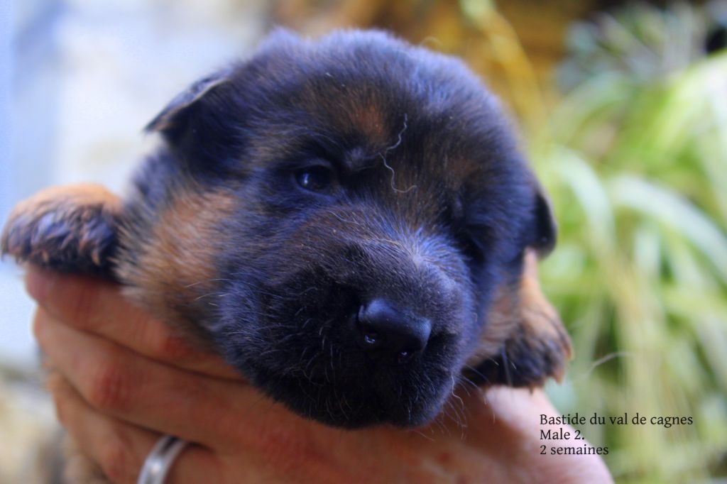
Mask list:
[{"label": "black and tan puppy held up in a hand", "polygon": [[542,296],[542,188],[481,81],[381,32],[278,31],[146,127],[161,148],[121,201],[20,203],[19,261],[102,275],[292,411],[414,427],[463,379],[561,376]]}]

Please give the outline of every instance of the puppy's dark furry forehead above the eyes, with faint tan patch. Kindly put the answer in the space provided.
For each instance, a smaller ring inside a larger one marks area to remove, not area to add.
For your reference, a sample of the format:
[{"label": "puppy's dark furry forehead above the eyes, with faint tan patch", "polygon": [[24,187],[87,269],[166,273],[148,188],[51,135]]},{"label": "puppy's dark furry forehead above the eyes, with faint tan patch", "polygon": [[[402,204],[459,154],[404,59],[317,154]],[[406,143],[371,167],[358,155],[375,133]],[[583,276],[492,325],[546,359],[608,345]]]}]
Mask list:
[{"label": "puppy's dark furry forehead above the eyes, with faint tan patch", "polygon": [[462,62],[383,33],[276,36],[234,82],[263,158],[271,146],[280,156],[316,143],[372,156],[403,151],[396,146],[473,158],[507,131],[494,97]]}]

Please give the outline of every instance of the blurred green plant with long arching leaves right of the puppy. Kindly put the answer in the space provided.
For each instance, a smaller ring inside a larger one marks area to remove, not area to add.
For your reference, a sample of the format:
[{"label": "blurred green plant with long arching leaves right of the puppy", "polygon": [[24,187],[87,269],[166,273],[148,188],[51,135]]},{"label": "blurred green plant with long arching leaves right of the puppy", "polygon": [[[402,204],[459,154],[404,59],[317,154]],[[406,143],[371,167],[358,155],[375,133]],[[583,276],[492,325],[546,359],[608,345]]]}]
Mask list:
[{"label": "blurred green plant with long arching leaves right of the puppy", "polygon": [[[727,51],[703,49],[714,7],[579,23],[569,91],[523,123],[560,223],[542,283],[576,350],[547,390],[563,412],[694,419],[586,427],[623,483],[727,475]],[[477,15],[502,43],[497,12]]]}]

